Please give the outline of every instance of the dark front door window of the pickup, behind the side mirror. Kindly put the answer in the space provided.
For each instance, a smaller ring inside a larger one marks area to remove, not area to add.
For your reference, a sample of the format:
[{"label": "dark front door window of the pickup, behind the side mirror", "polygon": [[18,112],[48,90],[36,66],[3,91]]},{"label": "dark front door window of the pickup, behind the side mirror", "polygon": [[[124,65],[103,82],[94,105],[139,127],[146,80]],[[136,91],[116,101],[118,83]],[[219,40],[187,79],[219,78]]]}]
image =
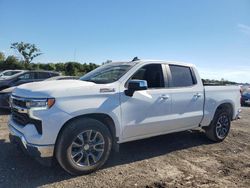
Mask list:
[{"label": "dark front door window of the pickup, behind the side mirror", "polygon": [[150,64],[140,68],[131,78],[132,80],[146,80],[148,88],[164,87],[161,64]]}]

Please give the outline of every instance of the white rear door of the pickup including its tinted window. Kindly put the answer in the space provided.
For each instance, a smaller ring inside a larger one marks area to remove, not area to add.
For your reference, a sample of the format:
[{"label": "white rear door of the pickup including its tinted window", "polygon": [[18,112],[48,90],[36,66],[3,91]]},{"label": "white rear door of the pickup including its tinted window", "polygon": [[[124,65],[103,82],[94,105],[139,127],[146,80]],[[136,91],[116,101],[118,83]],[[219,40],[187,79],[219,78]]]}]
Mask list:
[{"label": "white rear door of the pickup including its tinted window", "polygon": [[188,66],[166,65],[172,97],[170,126],[173,129],[197,127],[203,117],[204,92],[194,70]]}]

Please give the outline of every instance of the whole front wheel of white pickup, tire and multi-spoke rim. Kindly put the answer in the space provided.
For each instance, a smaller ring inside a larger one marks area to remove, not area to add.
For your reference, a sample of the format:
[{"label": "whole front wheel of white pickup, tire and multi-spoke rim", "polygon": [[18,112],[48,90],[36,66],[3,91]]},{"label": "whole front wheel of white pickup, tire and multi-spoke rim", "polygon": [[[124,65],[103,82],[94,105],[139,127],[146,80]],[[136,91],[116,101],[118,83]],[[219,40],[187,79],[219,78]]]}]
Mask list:
[{"label": "whole front wheel of white pickup, tire and multi-spoke rim", "polygon": [[56,158],[70,174],[88,174],[104,165],[111,147],[111,134],[102,122],[81,118],[70,122],[61,133]]}]

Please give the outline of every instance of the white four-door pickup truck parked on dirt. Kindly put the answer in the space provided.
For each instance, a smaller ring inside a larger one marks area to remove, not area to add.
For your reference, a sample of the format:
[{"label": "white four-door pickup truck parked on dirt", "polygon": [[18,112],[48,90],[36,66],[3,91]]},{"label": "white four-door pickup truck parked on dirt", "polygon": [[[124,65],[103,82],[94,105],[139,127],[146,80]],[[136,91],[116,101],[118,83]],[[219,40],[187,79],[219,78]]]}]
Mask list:
[{"label": "white four-door pickup truck parked on dirt", "polygon": [[240,90],[203,86],[193,65],[136,60],[105,64],[80,80],[24,84],[10,102],[10,140],[78,175],[128,141],[197,127],[222,141],[239,117]]}]

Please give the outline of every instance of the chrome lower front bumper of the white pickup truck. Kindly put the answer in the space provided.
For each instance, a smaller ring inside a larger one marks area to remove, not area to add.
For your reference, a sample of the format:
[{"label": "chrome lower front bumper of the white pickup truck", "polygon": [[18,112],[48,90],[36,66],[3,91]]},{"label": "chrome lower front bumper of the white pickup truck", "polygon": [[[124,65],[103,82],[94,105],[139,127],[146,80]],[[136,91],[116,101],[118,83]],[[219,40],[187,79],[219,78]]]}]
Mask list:
[{"label": "chrome lower front bumper of the white pickup truck", "polygon": [[25,153],[35,158],[41,164],[50,166],[54,156],[54,145],[36,145],[30,144],[25,136],[9,124],[10,141],[17,143]]}]

